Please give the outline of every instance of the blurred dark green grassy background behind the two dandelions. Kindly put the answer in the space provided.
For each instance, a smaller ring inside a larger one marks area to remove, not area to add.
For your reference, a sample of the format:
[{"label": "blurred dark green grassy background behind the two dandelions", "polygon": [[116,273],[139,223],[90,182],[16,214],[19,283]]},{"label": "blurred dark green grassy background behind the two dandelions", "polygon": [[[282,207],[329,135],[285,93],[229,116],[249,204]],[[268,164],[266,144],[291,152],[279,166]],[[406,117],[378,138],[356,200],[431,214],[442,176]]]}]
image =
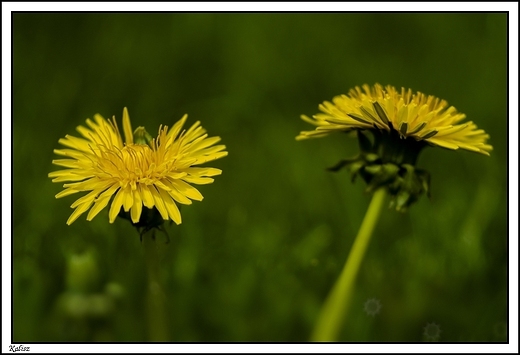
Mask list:
[{"label": "blurred dark green grassy background behind the two dandelions", "polygon": [[424,150],[432,198],[383,211],[341,339],[506,341],[506,39],[505,14],[14,14],[13,341],[152,338],[139,234],[108,208],[67,226],[79,196],[47,177],[58,139],[124,106],[229,151],[158,235],[169,340],[307,341],[370,197],[325,170],[357,142],[297,142],[299,116],[376,82],[446,99],[494,151]]}]

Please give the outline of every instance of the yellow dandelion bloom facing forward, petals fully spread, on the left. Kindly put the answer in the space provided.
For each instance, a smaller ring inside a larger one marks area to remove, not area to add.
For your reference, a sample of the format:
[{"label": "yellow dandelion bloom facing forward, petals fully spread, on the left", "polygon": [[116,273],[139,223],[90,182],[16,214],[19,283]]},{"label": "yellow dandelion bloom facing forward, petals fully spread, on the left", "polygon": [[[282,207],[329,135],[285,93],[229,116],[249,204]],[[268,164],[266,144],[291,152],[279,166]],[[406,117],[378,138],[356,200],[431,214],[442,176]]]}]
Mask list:
[{"label": "yellow dandelion bloom facing forward, petals fully spread, on the left", "polygon": [[198,165],[222,158],[228,153],[224,145],[215,145],[220,137],[208,137],[206,130],[195,122],[183,129],[188,115],[184,115],[171,129],[159,127],[157,138],[152,138],[143,127],[132,132],[126,107],[123,110],[124,142],[115,117],[105,120],[101,115],[87,119],[87,127],[78,126],[83,136],[66,135],[59,143],[67,149],[54,153],[66,157],[52,163],[66,169],[51,172],[53,182],[67,182],[61,198],[78,192],[87,192],[76,200],[67,220],[70,225],[81,214],[90,210],[92,220],[112,200],[109,221],[113,223],[121,209],[130,211],[132,222],[138,223],[143,206],[156,208],[163,220],[181,223],[177,203],[189,205],[203,199],[191,184],[209,184],[220,169]]}]

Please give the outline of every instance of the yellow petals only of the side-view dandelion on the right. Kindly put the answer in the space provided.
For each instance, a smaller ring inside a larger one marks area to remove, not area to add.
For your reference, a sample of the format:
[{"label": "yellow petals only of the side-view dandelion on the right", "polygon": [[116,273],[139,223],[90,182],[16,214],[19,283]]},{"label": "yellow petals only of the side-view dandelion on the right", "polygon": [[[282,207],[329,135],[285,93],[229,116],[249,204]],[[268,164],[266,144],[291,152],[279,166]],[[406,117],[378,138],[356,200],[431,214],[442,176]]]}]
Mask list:
[{"label": "yellow petals only of the side-view dandelion on the right", "polygon": [[486,132],[471,121],[461,123],[465,114],[448,107],[445,100],[421,92],[414,94],[411,89],[363,85],[348,95],[334,97],[332,102],[325,101],[319,109],[322,113],[313,118],[301,116],[317,127],[301,132],[296,139],[322,137],[334,131],[381,130],[453,150],[489,155],[493,149],[486,144]]}]

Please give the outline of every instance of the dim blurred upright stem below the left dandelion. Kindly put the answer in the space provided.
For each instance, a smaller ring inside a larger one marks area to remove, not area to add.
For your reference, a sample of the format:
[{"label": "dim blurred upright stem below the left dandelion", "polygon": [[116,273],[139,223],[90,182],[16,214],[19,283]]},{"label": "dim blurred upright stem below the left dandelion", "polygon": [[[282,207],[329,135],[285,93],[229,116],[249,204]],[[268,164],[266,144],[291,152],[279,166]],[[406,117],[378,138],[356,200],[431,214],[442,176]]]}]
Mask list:
[{"label": "dim blurred upright stem below the left dandelion", "polygon": [[146,310],[148,315],[148,337],[150,341],[169,341],[166,318],[166,296],[159,279],[159,255],[154,238],[155,230],[143,234],[143,247],[148,269]]}]

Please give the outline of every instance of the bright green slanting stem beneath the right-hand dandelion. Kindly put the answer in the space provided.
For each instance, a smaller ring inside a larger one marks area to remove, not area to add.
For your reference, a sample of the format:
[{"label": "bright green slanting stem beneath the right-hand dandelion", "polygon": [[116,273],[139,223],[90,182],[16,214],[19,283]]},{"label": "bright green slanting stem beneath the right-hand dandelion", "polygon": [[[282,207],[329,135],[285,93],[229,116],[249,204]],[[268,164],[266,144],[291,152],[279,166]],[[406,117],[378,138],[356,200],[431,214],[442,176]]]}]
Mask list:
[{"label": "bright green slanting stem beneath the right-hand dandelion", "polygon": [[337,340],[352,299],[354,281],[370,241],[370,236],[379,218],[385,196],[386,190],[384,188],[374,192],[341,275],[323,305],[311,341]]}]

